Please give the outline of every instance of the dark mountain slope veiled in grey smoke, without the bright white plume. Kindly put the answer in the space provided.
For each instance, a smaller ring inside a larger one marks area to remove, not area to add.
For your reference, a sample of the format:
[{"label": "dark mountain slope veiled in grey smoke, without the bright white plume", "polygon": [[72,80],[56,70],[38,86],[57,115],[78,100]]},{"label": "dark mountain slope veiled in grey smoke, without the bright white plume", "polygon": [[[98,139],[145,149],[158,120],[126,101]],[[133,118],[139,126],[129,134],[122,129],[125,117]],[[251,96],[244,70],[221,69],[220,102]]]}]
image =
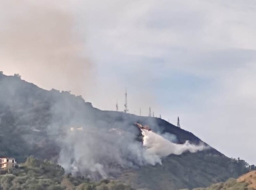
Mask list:
[{"label": "dark mountain slope veiled in grey smoke, without the bright white plume", "polygon": [[170,155],[162,158],[162,165],[145,163],[141,131],[134,122],[172,134],[176,143],[202,143],[163,119],[102,111],[81,96],[46,91],[19,76],[0,74],[0,155],[19,162],[34,155],[58,162],[67,172],[116,178],[152,190],[206,187],[248,171],[246,162],[214,148]]}]

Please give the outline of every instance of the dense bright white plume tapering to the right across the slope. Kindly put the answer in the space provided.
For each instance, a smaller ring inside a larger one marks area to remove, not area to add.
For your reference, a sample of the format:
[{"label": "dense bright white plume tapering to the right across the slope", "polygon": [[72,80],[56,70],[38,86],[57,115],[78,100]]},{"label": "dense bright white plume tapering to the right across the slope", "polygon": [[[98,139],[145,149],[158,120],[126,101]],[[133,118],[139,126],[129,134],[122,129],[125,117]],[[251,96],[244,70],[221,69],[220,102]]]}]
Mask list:
[{"label": "dense bright white plume tapering to the right across the slope", "polygon": [[143,146],[147,147],[145,152],[145,159],[148,163],[155,165],[156,163],[162,163],[161,158],[170,154],[180,155],[185,151],[197,152],[209,148],[203,143],[200,145],[190,144],[186,141],[184,144],[173,143],[163,136],[141,129],[143,135]]}]

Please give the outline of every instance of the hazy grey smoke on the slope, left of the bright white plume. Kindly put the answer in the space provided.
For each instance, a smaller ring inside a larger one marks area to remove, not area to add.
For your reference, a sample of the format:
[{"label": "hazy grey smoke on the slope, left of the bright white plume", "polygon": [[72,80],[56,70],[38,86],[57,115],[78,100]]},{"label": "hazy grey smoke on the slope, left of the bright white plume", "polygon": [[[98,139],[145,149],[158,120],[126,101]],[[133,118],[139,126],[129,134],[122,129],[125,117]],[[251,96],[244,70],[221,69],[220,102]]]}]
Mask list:
[{"label": "hazy grey smoke on the slope, left of the bright white plume", "polygon": [[122,168],[146,164],[136,135],[118,129],[85,128],[73,130],[61,141],[59,164],[67,172],[92,179],[115,177]]}]

